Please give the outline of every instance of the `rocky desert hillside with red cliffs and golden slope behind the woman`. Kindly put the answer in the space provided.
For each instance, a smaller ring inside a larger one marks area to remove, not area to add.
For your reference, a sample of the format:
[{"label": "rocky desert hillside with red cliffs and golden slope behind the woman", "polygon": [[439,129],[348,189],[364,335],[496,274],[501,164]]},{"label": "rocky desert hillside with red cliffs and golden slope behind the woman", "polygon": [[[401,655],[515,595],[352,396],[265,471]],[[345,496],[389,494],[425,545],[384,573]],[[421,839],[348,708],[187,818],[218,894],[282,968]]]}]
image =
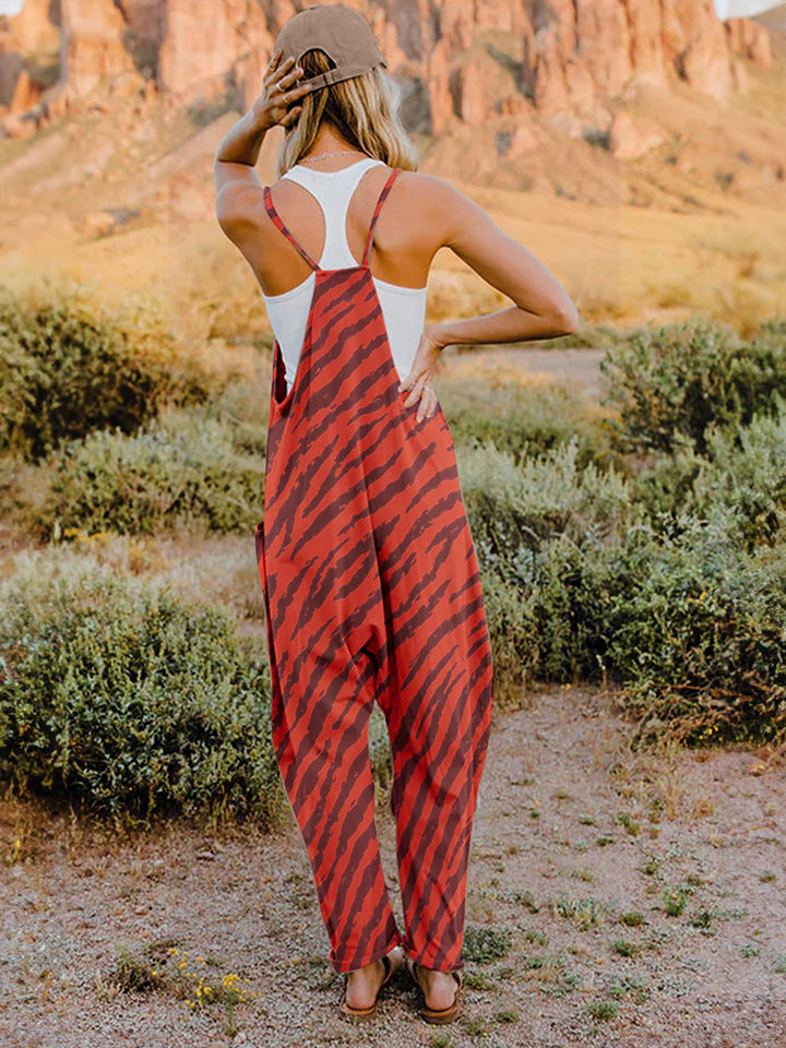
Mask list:
[{"label": "rocky desert hillside with red cliffs and golden slope behind the woman", "polygon": [[[543,258],[584,320],[704,310],[745,330],[786,310],[785,34],[722,23],[711,0],[358,5],[421,168]],[[294,10],[27,0],[0,17],[0,276],[155,287],[179,311],[255,299],[215,226],[211,162]],[[432,315],[500,301],[453,255],[433,288]]]}]

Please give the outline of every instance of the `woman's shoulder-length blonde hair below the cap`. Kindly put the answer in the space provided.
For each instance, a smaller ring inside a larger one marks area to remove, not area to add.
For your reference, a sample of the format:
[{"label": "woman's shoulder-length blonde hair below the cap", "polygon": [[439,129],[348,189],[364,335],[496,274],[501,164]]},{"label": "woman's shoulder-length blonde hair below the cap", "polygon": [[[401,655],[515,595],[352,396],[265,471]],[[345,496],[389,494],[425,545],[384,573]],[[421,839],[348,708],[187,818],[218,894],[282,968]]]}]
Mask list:
[{"label": "woman's shoulder-length blonde hair below the cap", "polygon": [[[335,62],[324,51],[313,48],[306,51],[299,64],[303,71],[301,80],[308,80],[332,69]],[[309,152],[322,120],[332,123],[356,150],[389,167],[417,170],[417,150],[398,117],[401,88],[381,66],[360,76],[309,92],[297,104],[302,110],[295,123],[285,129],[276,157],[276,178]]]}]

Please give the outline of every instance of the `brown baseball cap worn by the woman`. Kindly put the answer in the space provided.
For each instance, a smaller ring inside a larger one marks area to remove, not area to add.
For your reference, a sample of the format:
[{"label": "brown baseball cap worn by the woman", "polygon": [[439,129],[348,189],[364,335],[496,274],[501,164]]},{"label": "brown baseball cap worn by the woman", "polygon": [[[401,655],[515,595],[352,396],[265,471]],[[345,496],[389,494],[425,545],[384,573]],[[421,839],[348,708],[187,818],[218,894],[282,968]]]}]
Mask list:
[{"label": "brown baseball cap worn by the woman", "polygon": [[314,47],[329,55],[335,68],[299,80],[298,86],[326,87],[360,76],[376,66],[388,66],[371,26],[359,11],[345,3],[314,3],[299,11],[281,27],[273,50],[281,49],[282,61],[294,58],[299,62]]}]

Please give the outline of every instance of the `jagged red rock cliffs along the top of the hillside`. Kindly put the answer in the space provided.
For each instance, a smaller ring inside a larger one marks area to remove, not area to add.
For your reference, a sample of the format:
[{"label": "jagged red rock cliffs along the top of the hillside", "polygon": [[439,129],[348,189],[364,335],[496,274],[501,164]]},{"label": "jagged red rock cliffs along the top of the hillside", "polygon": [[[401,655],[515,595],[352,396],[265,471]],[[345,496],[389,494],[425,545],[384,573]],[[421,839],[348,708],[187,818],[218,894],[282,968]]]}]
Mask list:
[{"label": "jagged red rock cliffs along the top of the hillside", "polygon": [[[352,2],[352,0],[350,0]],[[551,114],[569,134],[606,135],[619,156],[654,142],[653,128],[618,116],[636,81],[664,90],[681,80],[724,99],[745,91],[742,58],[771,61],[767,31],[720,22],[713,0],[354,0],[369,19],[389,72],[416,99],[417,130],[454,122],[527,123]],[[0,103],[43,97],[28,56],[60,47],[72,98],[145,82],[180,105],[227,93],[257,97],[273,40],[303,0],[26,0],[0,20]],[[58,43],[59,41],[59,43]],[[514,128],[507,142],[529,142]]]}]

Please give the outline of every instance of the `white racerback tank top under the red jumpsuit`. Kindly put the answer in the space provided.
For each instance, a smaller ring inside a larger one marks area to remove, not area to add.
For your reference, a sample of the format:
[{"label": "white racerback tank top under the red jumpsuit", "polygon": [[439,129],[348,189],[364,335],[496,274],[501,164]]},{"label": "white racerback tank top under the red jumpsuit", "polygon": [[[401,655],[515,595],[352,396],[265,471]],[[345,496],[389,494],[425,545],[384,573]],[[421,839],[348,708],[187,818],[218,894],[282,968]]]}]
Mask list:
[{"label": "white racerback tank top under the red jumpsuit", "polygon": [[[325,242],[319,264],[323,270],[341,270],[358,265],[346,239],[346,215],[353,193],[370,167],[382,164],[372,157],[350,164],[340,171],[315,171],[303,165],[290,167],[282,178],[289,178],[308,190],[324,216]],[[283,295],[265,295],[273,334],[284,359],[287,390],[297,371],[313,293],[315,271]],[[426,287],[403,287],[372,275],[382,309],[393,362],[400,379],[412,369],[426,321]]]}]

